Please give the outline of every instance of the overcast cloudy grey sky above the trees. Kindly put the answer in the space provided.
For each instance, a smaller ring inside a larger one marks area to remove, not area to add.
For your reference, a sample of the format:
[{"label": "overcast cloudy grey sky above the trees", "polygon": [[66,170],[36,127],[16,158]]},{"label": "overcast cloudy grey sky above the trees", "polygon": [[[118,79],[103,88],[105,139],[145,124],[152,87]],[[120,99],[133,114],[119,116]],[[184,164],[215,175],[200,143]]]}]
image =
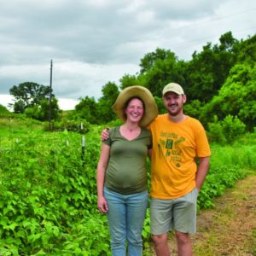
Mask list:
[{"label": "overcast cloudy grey sky above the trees", "polygon": [[49,85],[63,110],[140,71],[155,49],[189,61],[225,32],[256,32],[254,0],[0,0],[0,104],[24,82]]}]

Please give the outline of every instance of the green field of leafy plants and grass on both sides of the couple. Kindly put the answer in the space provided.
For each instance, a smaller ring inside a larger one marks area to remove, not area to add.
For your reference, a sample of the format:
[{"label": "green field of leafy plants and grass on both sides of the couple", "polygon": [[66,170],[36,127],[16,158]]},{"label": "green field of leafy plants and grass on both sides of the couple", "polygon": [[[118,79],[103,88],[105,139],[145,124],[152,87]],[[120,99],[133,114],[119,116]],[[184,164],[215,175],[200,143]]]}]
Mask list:
[{"label": "green field of leafy plants and grass on both sides of the couple", "polygon": [[[102,126],[83,136],[46,132],[32,120],[0,119],[0,255],[110,255],[106,216],[96,207]],[[212,144],[198,200],[212,209],[237,180],[255,175],[255,134],[233,146]],[[252,171],[254,170],[254,171]],[[253,174],[252,174],[253,173]],[[149,189],[148,163],[148,189]],[[149,212],[144,255],[150,255]]]}]

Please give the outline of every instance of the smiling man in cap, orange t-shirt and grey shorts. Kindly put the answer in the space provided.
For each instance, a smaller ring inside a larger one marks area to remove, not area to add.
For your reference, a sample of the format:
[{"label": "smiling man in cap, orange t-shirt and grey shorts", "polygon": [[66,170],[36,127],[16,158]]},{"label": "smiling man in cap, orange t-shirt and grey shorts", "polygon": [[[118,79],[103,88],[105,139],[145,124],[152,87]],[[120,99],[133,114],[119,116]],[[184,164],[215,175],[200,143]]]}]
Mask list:
[{"label": "smiling man in cap, orange t-shirt and grey shorts", "polygon": [[[170,255],[167,233],[172,229],[177,239],[177,254],[189,256],[192,255],[189,234],[196,230],[197,195],[207,176],[211,151],[201,123],[183,113],[186,102],[183,88],[167,84],[163,101],[168,113],[148,125],[153,137],[150,228],[158,256]],[[105,139],[103,134],[102,139]]]}]

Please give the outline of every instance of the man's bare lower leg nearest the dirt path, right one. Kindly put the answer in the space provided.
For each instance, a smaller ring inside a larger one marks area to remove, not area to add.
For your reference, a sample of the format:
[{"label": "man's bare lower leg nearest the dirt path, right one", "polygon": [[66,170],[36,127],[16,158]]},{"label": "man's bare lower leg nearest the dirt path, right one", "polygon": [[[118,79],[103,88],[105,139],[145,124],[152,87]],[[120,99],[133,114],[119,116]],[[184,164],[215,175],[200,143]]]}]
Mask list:
[{"label": "man's bare lower leg nearest the dirt path, right one", "polygon": [[192,256],[192,245],[188,233],[175,232],[177,240],[177,255]]}]

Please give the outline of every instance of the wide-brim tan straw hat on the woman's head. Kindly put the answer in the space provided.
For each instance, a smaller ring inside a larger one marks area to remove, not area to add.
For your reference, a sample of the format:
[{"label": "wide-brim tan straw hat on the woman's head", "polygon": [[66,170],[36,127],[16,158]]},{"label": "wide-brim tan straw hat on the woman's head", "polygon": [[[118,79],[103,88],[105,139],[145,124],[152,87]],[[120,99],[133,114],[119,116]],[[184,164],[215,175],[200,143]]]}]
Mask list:
[{"label": "wide-brim tan straw hat on the woman's head", "polygon": [[126,87],[119,93],[119,96],[114,102],[112,108],[113,111],[119,116],[119,119],[122,119],[125,122],[125,103],[132,97],[136,96],[142,99],[144,102],[144,114],[139,124],[142,127],[146,127],[158,115],[158,108],[156,103],[154,102],[154,97],[152,96],[150,90],[148,90],[147,88],[140,85]]}]

